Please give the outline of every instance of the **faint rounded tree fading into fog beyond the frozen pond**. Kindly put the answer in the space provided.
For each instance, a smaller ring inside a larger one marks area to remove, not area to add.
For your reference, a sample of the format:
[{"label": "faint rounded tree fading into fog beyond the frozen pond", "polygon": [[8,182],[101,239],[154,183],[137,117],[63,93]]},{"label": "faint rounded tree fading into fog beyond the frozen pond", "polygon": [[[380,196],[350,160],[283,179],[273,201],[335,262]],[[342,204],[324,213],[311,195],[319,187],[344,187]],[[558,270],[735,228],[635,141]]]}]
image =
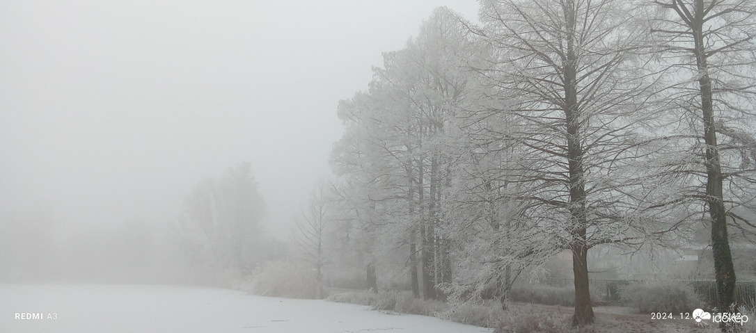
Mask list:
[{"label": "faint rounded tree fading into fog beyond the frozen pond", "polygon": [[243,273],[259,261],[265,204],[248,162],[203,180],[187,197],[179,233],[184,248],[215,270]]}]

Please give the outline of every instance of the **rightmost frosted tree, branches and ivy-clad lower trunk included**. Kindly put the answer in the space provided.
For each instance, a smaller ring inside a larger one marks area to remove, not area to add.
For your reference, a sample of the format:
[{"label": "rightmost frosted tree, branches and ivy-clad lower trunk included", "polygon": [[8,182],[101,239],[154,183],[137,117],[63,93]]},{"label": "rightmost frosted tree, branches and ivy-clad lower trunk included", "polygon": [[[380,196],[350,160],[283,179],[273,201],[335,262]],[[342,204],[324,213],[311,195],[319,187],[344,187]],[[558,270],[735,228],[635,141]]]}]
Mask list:
[{"label": "rightmost frosted tree, branches and ivy-clad lower trunk included", "polygon": [[665,9],[652,22],[652,32],[676,81],[668,89],[671,109],[683,111],[689,126],[678,128],[693,134],[692,151],[701,159],[686,174],[696,175],[705,189],[691,196],[704,200],[711,219],[717,308],[725,310],[736,301],[727,219],[750,224],[733,208],[752,208],[752,196],[745,193],[756,179],[756,140],[748,131],[756,94],[756,5],[750,0],[653,3]]}]

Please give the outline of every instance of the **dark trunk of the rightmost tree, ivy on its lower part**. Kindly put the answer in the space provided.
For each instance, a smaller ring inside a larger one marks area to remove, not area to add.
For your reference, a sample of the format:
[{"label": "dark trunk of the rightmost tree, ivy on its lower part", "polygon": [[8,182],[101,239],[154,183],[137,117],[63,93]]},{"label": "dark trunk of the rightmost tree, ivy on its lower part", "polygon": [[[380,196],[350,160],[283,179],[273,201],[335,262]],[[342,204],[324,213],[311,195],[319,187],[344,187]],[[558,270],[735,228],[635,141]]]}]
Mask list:
[{"label": "dark trunk of the rightmost tree, ivy on its lower part", "polygon": [[[705,4],[703,0],[696,0],[695,20],[691,25],[693,35],[695,35],[696,47],[694,53],[699,70],[701,109],[706,143],[706,203],[711,215],[711,245],[714,250],[714,276],[717,280],[719,298],[717,310],[726,312],[735,302],[736,277],[733,255],[730,252],[730,241],[727,236],[727,211],[724,208],[722,194],[723,175],[717,146],[717,128],[714,122],[713,94],[711,78],[708,73],[705,42],[702,35],[704,16]],[[721,328],[725,328],[725,326],[724,322],[720,325]]]}]

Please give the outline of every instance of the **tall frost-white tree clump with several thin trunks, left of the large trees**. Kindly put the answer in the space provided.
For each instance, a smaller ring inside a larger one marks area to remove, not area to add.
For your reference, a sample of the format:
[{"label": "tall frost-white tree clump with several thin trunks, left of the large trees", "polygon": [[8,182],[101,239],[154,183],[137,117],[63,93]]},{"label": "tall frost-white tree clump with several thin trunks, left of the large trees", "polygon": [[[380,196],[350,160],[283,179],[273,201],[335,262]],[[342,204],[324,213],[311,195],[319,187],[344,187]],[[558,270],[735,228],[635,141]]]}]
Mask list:
[{"label": "tall frost-white tree clump with several thin trunks, left of the large trees", "polygon": [[424,298],[451,281],[452,240],[439,232],[453,162],[444,128],[466,93],[465,65],[475,54],[468,39],[456,14],[437,9],[405,48],[384,54],[369,91],[339,105],[347,130],[335,169],[352,172],[352,185],[363,182],[364,202],[386,217],[380,230],[404,236],[395,241],[407,246],[411,285]]}]

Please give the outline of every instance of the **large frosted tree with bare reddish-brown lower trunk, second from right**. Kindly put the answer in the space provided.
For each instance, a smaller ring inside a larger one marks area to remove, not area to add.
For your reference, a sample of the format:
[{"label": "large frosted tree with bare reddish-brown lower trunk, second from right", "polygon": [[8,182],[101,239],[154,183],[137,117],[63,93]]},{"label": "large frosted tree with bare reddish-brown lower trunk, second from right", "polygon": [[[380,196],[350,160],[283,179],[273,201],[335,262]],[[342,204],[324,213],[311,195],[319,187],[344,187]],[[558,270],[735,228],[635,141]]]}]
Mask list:
[{"label": "large frosted tree with bare reddish-brown lower trunk, second from right", "polygon": [[572,251],[575,326],[593,322],[587,251],[627,242],[635,230],[643,237],[650,222],[638,208],[651,205],[624,195],[650,184],[619,168],[633,158],[651,87],[637,52],[644,35],[629,12],[612,0],[488,1],[481,11],[479,34],[493,48],[485,74],[505,102],[481,112],[512,124],[489,148],[517,154],[499,167],[513,177],[494,185],[510,187],[519,223]]}]

